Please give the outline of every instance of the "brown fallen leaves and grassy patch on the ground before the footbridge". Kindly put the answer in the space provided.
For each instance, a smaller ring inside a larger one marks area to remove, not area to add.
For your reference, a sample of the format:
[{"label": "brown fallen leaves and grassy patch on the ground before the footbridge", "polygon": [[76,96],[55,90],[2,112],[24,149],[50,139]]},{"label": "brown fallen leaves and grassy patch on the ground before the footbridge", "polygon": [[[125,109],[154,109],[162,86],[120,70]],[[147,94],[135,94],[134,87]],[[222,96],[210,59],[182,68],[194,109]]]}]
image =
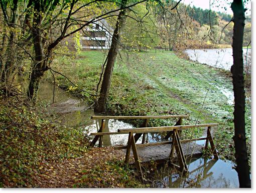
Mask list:
[{"label": "brown fallen leaves and grassy patch on the ground before the footbridge", "polygon": [[[129,187],[132,175],[127,175],[114,162],[124,160],[122,150],[113,147],[92,148],[82,157],[49,163],[43,172],[36,175],[38,187]],[[111,164],[110,164],[111,163]],[[51,169],[51,172],[48,170]],[[134,180],[137,180],[133,178]],[[40,181],[41,183],[38,183]],[[127,182],[129,181],[129,182]],[[125,182],[125,183],[124,183]],[[137,181],[138,182],[138,181]],[[134,182],[137,184],[137,182]]]}]

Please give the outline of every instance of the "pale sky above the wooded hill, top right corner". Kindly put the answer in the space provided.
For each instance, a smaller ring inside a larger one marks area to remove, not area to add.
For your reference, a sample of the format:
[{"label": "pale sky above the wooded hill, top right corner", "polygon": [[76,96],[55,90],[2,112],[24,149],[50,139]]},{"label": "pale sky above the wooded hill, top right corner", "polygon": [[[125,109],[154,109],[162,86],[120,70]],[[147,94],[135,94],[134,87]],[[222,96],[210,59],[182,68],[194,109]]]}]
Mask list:
[{"label": "pale sky above the wooded hill, top right corner", "polygon": [[[197,8],[202,8],[203,10],[205,10],[205,9],[209,10],[209,2],[211,2],[211,4],[213,4],[211,6],[211,10],[233,15],[233,12],[230,8],[231,3],[233,2],[232,0],[211,0],[211,1],[210,0],[182,0],[181,2],[186,5],[195,6]],[[244,7],[248,9],[245,12],[245,15],[250,15],[250,13],[251,13],[251,4],[250,3],[251,3],[251,1],[249,0],[248,3],[246,3],[244,5]],[[217,6],[219,6],[219,7],[217,7]],[[223,7],[223,8],[225,7],[225,8],[227,8],[227,10],[225,11],[221,7]]]}]

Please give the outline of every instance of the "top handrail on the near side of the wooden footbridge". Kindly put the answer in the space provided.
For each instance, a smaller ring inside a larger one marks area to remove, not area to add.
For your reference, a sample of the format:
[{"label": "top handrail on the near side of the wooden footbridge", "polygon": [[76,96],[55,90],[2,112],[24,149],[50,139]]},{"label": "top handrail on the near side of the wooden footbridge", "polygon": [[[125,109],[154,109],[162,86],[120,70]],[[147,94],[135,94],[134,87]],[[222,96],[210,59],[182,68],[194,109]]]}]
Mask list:
[{"label": "top handrail on the near side of the wooden footbridge", "polygon": [[209,127],[209,126],[217,126],[218,123],[211,124],[198,124],[198,125],[177,125],[177,126],[162,126],[162,127],[142,127],[142,128],[129,128],[129,129],[118,129],[117,132],[134,132],[134,133],[155,133],[160,131],[173,131],[190,129],[194,127]]}]

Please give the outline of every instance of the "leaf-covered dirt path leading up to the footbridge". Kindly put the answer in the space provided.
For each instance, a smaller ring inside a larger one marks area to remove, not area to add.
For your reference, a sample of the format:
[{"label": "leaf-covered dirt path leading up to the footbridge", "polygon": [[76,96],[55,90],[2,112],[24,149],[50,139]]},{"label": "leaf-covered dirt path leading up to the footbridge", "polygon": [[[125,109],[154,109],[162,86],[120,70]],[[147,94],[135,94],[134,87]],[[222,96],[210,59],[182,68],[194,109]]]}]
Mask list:
[{"label": "leaf-covered dirt path leading up to the footbridge", "polygon": [[[74,187],[74,184],[83,182],[88,187],[99,187],[96,182],[107,178],[107,173],[102,173],[97,179],[93,170],[100,166],[107,169],[108,161],[123,160],[125,154],[113,147],[92,148],[82,157],[66,159],[58,163],[49,163],[41,166],[40,173],[34,176],[34,187]],[[96,177],[96,182],[91,181],[91,176]],[[86,179],[87,178],[87,179]],[[107,179],[106,179],[107,180]],[[118,185],[114,185],[117,186]]]}]

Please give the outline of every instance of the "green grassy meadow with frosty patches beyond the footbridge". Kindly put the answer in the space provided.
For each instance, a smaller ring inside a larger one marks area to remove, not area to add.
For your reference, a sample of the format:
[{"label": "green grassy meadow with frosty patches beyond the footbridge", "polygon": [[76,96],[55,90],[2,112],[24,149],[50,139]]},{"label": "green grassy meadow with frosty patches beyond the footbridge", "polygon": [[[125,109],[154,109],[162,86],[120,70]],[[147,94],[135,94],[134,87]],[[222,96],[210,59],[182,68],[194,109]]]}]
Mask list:
[{"label": "green grassy meadow with frosty patches beyond the footbridge", "polygon": [[[77,57],[59,56],[53,69],[65,74],[79,87],[95,94],[104,53],[85,51]],[[51,73],[46,79],[53,81]],[[56,75],[59,86],[95,100],[81,92],[64,77]],[[115,63],[107,101],[112,115],[189,114],[184,124],[217,122],[215,142],[222,158],[234,160],[232,83],[230,74],[196,62],[178,58],[173,52],[121,52]],[[246,105],[246,134],[250,156],[250,104]],[[151,121],[151,126],[168,125],[167,121]],[[202,130],[184,135],[201,136]]]}]

